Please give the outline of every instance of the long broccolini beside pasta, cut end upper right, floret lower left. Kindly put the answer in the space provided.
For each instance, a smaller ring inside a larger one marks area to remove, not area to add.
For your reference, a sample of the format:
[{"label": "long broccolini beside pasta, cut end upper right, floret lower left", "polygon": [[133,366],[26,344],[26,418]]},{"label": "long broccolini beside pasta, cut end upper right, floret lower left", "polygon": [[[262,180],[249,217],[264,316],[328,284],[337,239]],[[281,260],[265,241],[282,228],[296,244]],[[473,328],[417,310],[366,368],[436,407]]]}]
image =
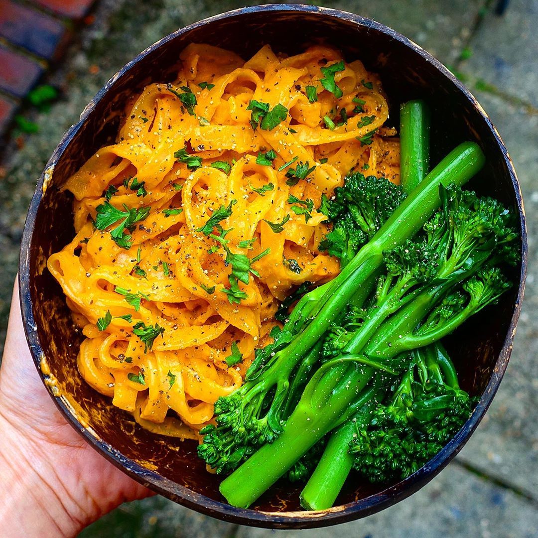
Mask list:
[{"label": "long broccolini beside pasta, cut end upper right, floret lower left", "polygon": [[[202,430],[204,440],[199,447],[200,456],[209,465],[217,472],[230,472],[258,447],[280,438],[283,423],[299,400],[309,372],[319,363],[325,333],[350,302],[362,307],[373,278],[384,264],[383,251],[404,243],[419,231],[441,204],[440,184],[462,185],[482,168],[483,162],[476,144],[458,146],[400,204],[334,280],[302,296],[284,329],[271,332],[273,344],[257,351],[244,385],[229,397],[217,400],[217,427]],[[291,463],[295,460],[294,457]],[[227,480],[225,483],[229,484]],[[229,500],[236,502],[235,498]]]}]

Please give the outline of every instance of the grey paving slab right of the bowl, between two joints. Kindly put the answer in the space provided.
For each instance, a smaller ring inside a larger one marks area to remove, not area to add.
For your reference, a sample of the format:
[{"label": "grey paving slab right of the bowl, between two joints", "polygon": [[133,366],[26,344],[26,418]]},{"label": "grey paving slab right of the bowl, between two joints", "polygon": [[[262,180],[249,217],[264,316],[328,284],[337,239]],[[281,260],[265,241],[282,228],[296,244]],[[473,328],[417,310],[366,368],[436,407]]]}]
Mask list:
[{"label": "grey paving slab right of the bowl, between two joints", "polygon": [[[536,17],[538,21],[538,16]],[[477,97],[514,161],[525,201],[528,277],[512,358],[484,420],[458,458],[538,494],[538,115],[489,94]]]}]

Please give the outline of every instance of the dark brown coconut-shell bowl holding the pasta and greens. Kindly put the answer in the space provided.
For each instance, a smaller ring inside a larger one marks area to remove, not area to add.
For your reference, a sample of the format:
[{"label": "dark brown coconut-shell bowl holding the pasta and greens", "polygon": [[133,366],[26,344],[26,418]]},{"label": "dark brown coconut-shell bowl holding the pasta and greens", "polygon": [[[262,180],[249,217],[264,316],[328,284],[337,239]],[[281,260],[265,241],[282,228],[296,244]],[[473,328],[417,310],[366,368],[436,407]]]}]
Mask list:
[{"label": "dark brown coconut-shell bowl holding the pasta and greens", "polygon": [[[395,125],[401,102],[422,97],[430,103],[434,164],[463,140],[475,140],[482,146],[487,164],[471,187],[497,197],[518,215],[521,263],[513,272],[513,291],[504,295],[499,305],[466,323],[448,343],[463,387],[479,395],[480,401],[459,434],[432,461],[395,484],[372,486],[351,476],[336,506],[327,511],[299,511],[301,488],[287,483],[277,484],[251,509],[237,509],[221,497],[220,478],[206,472],[196,457],[194,442],[148,433],[82,381],[75,362],[81,335],[74,330],[59,285],[46,270],[46,259],[74,235],[71,200],[60,192],[60,186],[114,138],[119,112],[134,91],[150,81],[172,76],[171,66],[183,47],[192,42],[209,43],[248,58],[265,43],[277,51],[298,53],[319,41],[341,48],[348,59],[359,58],[380,74]],[[20,256],[20,300],[33,358],[56,405],[118,468],[166,497],[219,519],[271,528],[321,527],[372,514],[404,499],[441,471],[463,447],[484,416],[506,369],[526,263],[525,215],[512,162],[484,110],[440,62],[370,19],[314,6],[266,5],[224,13],[174,32],[139,54],[91,100],[79,123],[67,131],[54,151],[33,196]],[[45,357],[50,374],[41,368]]]}]

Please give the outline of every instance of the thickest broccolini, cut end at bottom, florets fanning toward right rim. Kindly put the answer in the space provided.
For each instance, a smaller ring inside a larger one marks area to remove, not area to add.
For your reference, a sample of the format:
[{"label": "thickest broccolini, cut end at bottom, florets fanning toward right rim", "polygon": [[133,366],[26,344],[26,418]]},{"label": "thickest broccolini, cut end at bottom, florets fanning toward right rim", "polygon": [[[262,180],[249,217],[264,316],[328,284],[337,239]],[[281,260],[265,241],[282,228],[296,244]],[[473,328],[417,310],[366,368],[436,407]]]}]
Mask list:
[{"label": "thickest broccolini, cut end at bottom, florets fanning toward right rim", "polygon": [[[282,433],[222,482],[221,493],[233,506],[249,506],[328,431],[370,401],[372,396],[364,400],[365,393],[376,390],[376,373],[398,376],[409,371],[410,351],[450,334],[511,287],[498,265],[507,260],[515,263],[517,258],[513,215],[496,200],[479,198],[456,186],[440,190],[443,209],[424,225],[424,232],[385,252],[386,274],[378,281],[372,306],[357,312],[352,323],[337,324],[329,332],[323,348],[325,362],[310,378]],[[462,399],[450,399],[450,394],[447,399],[446,393],[444,387],[441,392],[413,393],[415,401],[421,402],[416,412],[412,407],[413,413],[420,411],[421,420],[428,423],[425,427],[442,440],[450,438],[457,423],[461,425],[469,416],[469,407],[461,407]],[[443,396],[442,413],[428,404],[432,399],[437,404],[438,396]],[[441,435],[446,424],[445,415],[440,415],[456,410],[457,423]],[[386,433],[408,438],[407,429],[393,431],[393,426],[389,417],[379,426],[385,434],[378,435],[374,423],[366,444],[370,438],[382,442]],[[395,444],[389,446],[399,458],[395,466],[402,475],[427,461],[433,450],[419,448],[415,461],[406,466],[405,450],[398,452]],[[377,453],[375,448],[371,454]],[[364,456],[363,445],[357,450]],[[369,458],[360,463],[366,461]],[[391,465],[386,464],[384,477]],[[376,472],[372,470],[373,475]]]}]

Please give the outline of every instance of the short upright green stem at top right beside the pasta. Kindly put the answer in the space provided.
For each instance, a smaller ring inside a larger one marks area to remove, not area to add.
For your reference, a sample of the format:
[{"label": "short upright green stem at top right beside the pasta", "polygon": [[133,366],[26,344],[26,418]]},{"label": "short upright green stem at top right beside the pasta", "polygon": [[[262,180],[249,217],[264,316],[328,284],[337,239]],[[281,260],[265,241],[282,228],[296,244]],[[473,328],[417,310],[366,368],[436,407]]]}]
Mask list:
[{"label": "short upright green stem at top right beside the pasta", "polygon": [[400,179],[409,194],[428,173],[430,111],[422,101],[408,101],[400,107]]}]

